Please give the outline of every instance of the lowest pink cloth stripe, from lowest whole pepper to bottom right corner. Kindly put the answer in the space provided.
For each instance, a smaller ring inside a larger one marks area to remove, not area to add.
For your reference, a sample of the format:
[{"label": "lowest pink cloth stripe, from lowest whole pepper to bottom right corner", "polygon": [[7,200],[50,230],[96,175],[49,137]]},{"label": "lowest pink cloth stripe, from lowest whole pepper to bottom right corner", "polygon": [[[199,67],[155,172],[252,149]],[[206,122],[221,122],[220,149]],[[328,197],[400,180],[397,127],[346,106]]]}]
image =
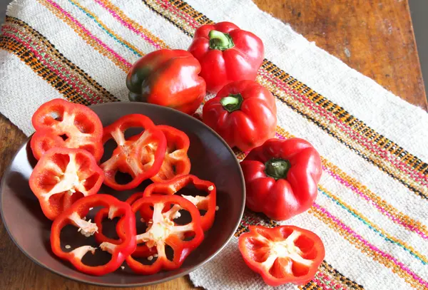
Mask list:
[{"label": "lowest pink cloth stripe, from lowest whole pepper to bottom right corner", "polygon": [[397,266],[399,266],[400,269],[402,269],[402,271],[405,271],[407,274],[412,276],[415,280],[419,281],[420,284],[422,284],[428,288],[428,282],[427,281],[424,281],[424,279],[417,276],[417,274],[415,274],[412,270],[410,270],[401,261],[398,261],[397,259],[392,257],[390,254],[383,252],[382,250],[380,250],[379,248],[377,248],[373,244],[370,244],[369,242],[367,242],[367,240],[365,240],[363,237],[361,237],[360,234],[357,234],[356,232],[354,232],[350,227],[348,227],[346,224],[344,224],[342,221],[340,221],[340,219],[338,219],[337,217],[332,215],[330,212],[328,212],[327,209],[325,209],[324,207],[321,207],[319,204],[316,204],[316,203],[314,203],[312,205],[312,207],[315,207],[316,209],[320,210],[323,214],[325,214],[333,222],[335,222],[335,224],[337,224],[337,226],[339,226],[341,229],[344,229],[348,234],[352,235],[352,237],[355,237],[355,239],[358,239],[367,248],[371,249],[372,252],[376,252],[377,254],[380,254],[382,257],[393,261],[394,264],[396,264]]}]

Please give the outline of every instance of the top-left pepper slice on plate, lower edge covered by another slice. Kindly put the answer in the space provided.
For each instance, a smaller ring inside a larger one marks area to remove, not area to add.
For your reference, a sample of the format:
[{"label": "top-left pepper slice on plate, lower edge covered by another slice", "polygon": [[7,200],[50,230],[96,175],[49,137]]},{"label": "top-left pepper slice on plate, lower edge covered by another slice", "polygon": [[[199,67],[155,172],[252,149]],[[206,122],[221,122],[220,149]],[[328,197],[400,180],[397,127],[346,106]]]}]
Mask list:
[{"label": "top-left pepper slice on plate, lower edge covered by another slice", "polygon": [[85,105],[63,99],[50,100],[32,118],[36,133],[31,150],[37,160],[53,147],[81,148],[98,162],[103,156],[103,125],[98,115]]}]

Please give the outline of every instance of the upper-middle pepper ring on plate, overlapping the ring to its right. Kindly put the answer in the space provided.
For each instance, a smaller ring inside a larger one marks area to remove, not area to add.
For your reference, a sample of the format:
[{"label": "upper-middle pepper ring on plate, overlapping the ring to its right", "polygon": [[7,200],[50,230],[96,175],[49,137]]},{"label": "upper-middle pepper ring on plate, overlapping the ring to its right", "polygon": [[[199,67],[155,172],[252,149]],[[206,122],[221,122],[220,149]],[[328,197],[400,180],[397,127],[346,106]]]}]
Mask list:
[{"label": "upper-middle pepper ring on plate, overlapping the ring to its right", "polygon": [[[144,132],[126,140],[125,131],[129,128],[143,128]],[[100,166],[106,177],[104,183],[108,187],[130,190],[158,173],[165,156],[166,140],[162,131],[148,117],[131,114],[119,118],[104,128],[103,143],[110,139],[114,139],[118,147],[113,150],[110,159]],[[156,150],[148,150],[146,147],[156,147]],[[124,185],[116,182],[118,171],[131,175],[131,182]]]}]

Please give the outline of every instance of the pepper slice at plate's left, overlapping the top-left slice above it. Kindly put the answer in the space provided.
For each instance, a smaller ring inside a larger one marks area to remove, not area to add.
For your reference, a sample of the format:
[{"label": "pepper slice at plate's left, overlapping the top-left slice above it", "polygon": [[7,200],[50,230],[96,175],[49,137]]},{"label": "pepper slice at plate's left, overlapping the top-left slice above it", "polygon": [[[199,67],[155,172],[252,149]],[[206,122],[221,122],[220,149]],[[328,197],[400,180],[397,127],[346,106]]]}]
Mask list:
[{"label": "pepper slice at plate's left, overlapping the top-left slice above it", "polygon": [[55,219],[76,200],[96,194],[103,179],[103,170],[89,152],[55,147],[42,155],[29,184],[44,215]]}]

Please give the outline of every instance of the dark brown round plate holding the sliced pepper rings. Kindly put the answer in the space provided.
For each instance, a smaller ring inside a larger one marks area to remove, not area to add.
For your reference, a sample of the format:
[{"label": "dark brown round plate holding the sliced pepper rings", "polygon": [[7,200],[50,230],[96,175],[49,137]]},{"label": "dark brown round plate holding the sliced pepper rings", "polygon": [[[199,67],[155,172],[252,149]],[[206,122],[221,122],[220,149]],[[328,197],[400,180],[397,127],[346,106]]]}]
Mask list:
[{"label": "dark brown round plate holding the sliced pepper rings", "polygon": [[[40,205],[29,187],[29,176],[36,165],[29,140],[16,153],[1,182],[1,216],[11,239],[30,259],[56,274],[77,281],[101,286],[144,286],[178,278],[195,270],[212,259],[228,243],[238,228],[245,204],[243,174],[230,147],[213,130],[199,120],[177,110],[146,103],[107,103],[91,107],[101,118],[103,125],[109,125],[123,115],[141,113],[156,124],[166,124],[183,130],[190,138],[189,157],[192,162],[191,174],[214,182],[217,187],[218,212],[213,227],[205,234],[200,246],[185,260],[180,269],[161,271],[150,276],[133,274],[125,269],[105,276],[90,276],[76,271],[67,261],[58,259],[51,252],[49,234],[51,221],[44,217]],[[150,182],[128,192],[116,192],[106,186],[100,192],[125,200],[133,192],[139,192]],[[82,241],[81,234],[61,234],[61,244],[72,247],[91,244],[93,237]],[[78,237],[78,239],[76,239]],[[78,241],[78,242],[76,242]],[[238,250],[238,249],[237,249]],[[101,251],[96,251],[101,252]],[[102,252],[101,252],[102,253]],[[87,254],[88,264],[96,263]],[[97,259],[103,259],[98,257]]]}]

